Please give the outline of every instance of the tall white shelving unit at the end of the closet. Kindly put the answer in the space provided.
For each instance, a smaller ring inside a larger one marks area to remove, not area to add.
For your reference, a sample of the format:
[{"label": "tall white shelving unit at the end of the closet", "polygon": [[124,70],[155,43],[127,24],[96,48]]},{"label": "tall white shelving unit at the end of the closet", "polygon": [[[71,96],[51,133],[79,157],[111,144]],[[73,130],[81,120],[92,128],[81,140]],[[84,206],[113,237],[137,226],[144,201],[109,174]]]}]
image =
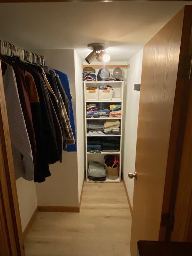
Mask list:
[{"label": "tall white shelving unit at the end of the closet", "polygon": [[[97,87],[99,88],[101,85],[110,85],[113,89],[113,98],[120,98],[119,100],[86,100],[86,88],[91,87]],[[98,161],[102,164],[105,163],[104,156],[111,154],[111,155],[118,155],[119,156],[119,176],[115,180],[106,179],[104,182],[121,182],[121,158],[122,158],[122,116],[123,116],[123,81],[85,81],[84,82],[84,102],[85,102],[85,156],[86,156],[86,181],[87,182],[93,182],[92,180],[88,179],[88,161]],[[98,102],[107,102],[109,105],[114,104],[114,102],[121,104],[121,117],[86,117],[86,106],[88,103],[98,103]],[[88,120],[114,120],[117,119],[120,121],[120,135],[87,135],[87,121]],[[120,138],[120,150],[119,152],[101,152],[101,153],[90,153],[87,152],[87,138],[89,137],[119,137]]]}]

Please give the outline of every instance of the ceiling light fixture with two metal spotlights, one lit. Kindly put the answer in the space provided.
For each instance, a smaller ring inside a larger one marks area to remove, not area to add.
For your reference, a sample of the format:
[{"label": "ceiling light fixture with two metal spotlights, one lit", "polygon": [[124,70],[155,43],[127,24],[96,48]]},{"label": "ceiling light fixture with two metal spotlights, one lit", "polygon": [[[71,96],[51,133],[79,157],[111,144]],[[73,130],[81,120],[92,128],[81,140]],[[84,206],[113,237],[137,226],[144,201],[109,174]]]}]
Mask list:
[{"label": "ceiling light fixture with two metal spotlights, one lit", "polygon": [[107,54],[105,51],[105,49],[108,48],[107,44],[93,43],[88,44],[87,47],[92,50],[92,52],[85,58],[88,64],[90,64],[94,59],[96,59],[99,62],[108,62],[110,60],[109,54]]}]

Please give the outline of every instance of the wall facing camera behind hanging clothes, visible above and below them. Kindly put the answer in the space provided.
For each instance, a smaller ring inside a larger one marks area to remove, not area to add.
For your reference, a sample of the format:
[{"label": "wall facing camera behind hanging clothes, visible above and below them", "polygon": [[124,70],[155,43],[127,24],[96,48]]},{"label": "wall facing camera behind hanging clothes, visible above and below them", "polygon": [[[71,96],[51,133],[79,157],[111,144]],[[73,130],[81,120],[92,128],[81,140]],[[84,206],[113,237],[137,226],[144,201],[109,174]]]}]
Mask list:
[{"label": "wall facing camera behind hanging clothes, visible above and below them", "polygon": [[[45,56],[45,64],[67,74],[73,97],[76,126],[76,95],[74,50],[33,50]],[[49,165],[52,175],[45,182],[36,183],[38,206],[79,206],[77,152],[63,151],[62,163]]]}]

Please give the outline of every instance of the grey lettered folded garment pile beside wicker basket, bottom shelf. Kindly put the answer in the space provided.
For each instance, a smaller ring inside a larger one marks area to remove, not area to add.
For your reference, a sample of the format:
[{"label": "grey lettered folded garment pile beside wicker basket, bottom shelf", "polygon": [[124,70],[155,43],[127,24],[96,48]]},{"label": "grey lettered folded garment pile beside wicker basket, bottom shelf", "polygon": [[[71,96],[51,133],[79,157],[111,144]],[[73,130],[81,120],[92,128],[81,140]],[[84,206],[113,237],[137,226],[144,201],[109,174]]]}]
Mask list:
[{"label": "grey lettered folded garment pile beside wicker basket, bottom shelf", "polygon": [[104,164],[97,161],[88,162],[88,179],[93,181],[105,181],[106,170]]}]

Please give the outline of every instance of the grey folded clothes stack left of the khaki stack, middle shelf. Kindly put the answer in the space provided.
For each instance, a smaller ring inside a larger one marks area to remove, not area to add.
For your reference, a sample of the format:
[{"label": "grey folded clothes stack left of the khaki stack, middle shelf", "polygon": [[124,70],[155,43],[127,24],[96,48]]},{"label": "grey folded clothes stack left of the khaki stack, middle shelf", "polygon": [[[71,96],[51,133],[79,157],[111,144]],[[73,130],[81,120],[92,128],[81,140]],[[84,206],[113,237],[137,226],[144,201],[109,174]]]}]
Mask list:
[{"label": "grey folded clothes stack left of the khaki stack, middle shelf", "polygon": [[88,120],[87,135],[104,135],[104,121]]}]

